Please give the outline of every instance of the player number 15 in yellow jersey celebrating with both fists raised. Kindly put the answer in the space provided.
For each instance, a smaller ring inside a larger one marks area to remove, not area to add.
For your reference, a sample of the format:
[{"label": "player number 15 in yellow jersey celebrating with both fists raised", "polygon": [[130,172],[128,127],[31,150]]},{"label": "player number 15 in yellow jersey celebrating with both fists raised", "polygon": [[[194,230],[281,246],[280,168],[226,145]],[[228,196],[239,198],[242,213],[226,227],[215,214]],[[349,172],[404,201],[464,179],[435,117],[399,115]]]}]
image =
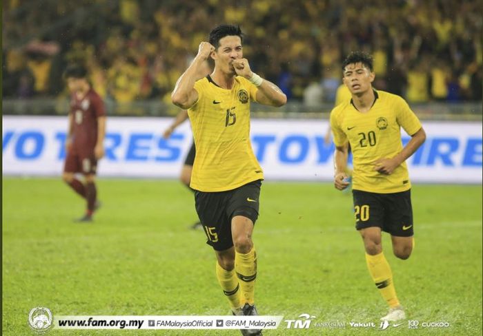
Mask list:
[{"label": "player number 15 in yellow jersey celebrating with both fists raised", "polygon": [[[233,314],[257,315],[257,255],[251,237],[264,176],[250,145],[250,101],[279,107],[286,96],[250,70],[242,39],[237,26],[213,29],[179,77],[172,102],[188,109],[196,146],[190,187],[207,243],[215,249],[217,279]],[[199,79],[198,67],[208,57],[215,70]],[[261,330],[242,333],[261,335]]]}]

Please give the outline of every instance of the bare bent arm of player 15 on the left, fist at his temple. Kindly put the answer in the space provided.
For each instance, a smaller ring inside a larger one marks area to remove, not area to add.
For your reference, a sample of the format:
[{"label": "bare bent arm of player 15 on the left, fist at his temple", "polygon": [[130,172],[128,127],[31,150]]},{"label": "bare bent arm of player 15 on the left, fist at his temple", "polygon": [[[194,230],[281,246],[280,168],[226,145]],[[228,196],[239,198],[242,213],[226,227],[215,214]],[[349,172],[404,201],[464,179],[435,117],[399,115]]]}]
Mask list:
[{"label": "bare bent arm of player 15 on the left, fist at his temple", "polygon": [[204,61],[208,59],[215,47],[208,42],[199,43],[198,54],[188,69],[178,78],[175,90],[171,93],[173,104],[182,109],[189,109],[198,100],[198,93],[195,90],[195,82],[199,79],[199,74],[204,67]]}]

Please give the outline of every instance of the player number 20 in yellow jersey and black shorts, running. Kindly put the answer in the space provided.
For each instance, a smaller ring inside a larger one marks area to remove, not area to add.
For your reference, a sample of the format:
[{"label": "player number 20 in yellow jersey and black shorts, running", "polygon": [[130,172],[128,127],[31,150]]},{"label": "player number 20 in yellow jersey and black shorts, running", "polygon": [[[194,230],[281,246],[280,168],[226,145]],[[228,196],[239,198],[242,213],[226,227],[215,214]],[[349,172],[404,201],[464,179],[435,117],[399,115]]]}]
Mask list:
[{"label": "player number 20 in yellow jersey and black shorts, running", "polygon": [[[389,305],[389,313],[382,320],[397,321],[405,319],[406,314],[397,300],[391,267],[382,252],[381,231],[391,234],[397,258],[409,258],[413,250],[413,209],[405,161],[424,143],[426,134],[403,98],[373,89],[371,56],[353,52],[342,69],[352,99],[331,112],[335,187],[343,190],[348,186],[344,171],[347,147],[351,145],[355,227],[364,240],[369,273]],[[400,127],[411,136],[404,148]]]}]

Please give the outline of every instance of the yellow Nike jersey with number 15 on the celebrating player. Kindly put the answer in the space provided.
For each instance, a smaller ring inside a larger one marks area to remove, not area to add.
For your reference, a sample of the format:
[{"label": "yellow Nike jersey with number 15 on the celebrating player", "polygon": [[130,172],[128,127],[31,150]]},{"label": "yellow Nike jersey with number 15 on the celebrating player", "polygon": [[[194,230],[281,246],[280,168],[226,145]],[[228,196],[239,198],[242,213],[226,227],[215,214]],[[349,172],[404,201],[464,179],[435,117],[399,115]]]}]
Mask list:
[{"label": "yellow Nike jersey with number 15 on the celebrating player", "polygon": [[226,191],[263,179],[250,143],[250,101],[256,101],[257,87],[237,76],[226,90],[206,76],[195,90],[198,100],[188,109],[196,147],[190,187]]}]

